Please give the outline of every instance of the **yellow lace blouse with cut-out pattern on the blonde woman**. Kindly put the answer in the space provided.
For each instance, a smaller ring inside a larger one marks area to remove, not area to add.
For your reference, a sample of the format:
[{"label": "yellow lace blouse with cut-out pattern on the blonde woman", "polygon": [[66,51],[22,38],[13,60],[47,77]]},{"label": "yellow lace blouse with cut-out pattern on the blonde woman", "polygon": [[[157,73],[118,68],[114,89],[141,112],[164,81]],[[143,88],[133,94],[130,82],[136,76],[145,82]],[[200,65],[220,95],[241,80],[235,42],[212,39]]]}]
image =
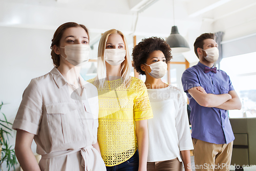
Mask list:
[{"label": "yellow lace blouse with cut-out pattern on the blonde woman", "polygon": [[[88,82],[94,84],[94,80]],[[121,79],[105,81],[102,90],[95,86],[100,152],[105,165],[114,166],[130,159],[138,149],[135,121],[152,118],[153,113],[145,84],[137,78],[132,77],[127,89]]]}]

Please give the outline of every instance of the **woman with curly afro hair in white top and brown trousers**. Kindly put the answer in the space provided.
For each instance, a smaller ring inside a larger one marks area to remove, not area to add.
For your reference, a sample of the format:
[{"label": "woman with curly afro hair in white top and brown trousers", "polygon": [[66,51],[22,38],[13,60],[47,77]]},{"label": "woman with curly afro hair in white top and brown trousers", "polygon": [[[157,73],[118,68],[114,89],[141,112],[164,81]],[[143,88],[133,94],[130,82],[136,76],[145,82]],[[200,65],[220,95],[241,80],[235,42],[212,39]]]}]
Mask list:
[{"label": "woman with curly afro hair in white top and brown trousers", "polygon": [[147,170],[191,170],[193,150],[183,92],[162,82],[171,49],[162,38],[145,38],[133,49],[133,65],[146,75],[145,85],[154,118],[148,119]]}]

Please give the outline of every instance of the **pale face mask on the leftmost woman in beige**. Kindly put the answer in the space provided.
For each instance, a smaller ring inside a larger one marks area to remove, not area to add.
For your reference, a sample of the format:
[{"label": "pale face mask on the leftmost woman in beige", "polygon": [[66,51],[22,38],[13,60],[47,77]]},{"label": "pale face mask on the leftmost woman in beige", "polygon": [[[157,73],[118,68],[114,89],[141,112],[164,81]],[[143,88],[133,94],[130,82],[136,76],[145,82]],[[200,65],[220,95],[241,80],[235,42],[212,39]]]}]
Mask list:
[{"label": "pale face mask on the leftmost woman in beige", "polygon": [[65,47],[65,54],[67,61],[71,63],[74,66],[81,66],[86,64],[87,61],[89,61],[90,58],[90,50],[91,47],[86,44],[72,44],[72,45],[66,45]]}]

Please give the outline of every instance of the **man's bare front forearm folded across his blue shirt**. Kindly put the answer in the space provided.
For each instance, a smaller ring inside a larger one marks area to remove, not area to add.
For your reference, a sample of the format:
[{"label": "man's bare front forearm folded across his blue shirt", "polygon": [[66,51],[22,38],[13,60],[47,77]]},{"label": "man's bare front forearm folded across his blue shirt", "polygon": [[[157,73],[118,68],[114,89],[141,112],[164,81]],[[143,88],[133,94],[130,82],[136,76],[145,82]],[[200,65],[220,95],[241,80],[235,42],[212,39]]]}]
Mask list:
[{"label": "man's bare front forearm folded across his blue shirt", "polygon": [[[188,93],[195,99],[195,101],[203,107],[217,107],[227,102],[232,98],[230,94],[207,94],[205,91],[202,92],[198,88],[190,88]],[[201,87],[202,88],[202,87]]]}]

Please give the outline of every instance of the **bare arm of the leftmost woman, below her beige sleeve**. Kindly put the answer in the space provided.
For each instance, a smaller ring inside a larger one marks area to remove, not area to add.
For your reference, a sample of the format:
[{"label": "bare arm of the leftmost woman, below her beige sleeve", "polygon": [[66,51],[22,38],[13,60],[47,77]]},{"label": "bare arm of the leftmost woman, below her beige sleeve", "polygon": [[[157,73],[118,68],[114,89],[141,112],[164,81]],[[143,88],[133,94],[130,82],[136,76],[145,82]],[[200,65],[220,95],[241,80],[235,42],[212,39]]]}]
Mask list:
[{"label": "bare arm of the leftmost woman, below her beige sleeve", "polygon": [[34,139],[34,134],[23,130],[17,130],[15,153],[20,166],[23,170],[40,171],[36,158],[31,150],[31,144]]}]

